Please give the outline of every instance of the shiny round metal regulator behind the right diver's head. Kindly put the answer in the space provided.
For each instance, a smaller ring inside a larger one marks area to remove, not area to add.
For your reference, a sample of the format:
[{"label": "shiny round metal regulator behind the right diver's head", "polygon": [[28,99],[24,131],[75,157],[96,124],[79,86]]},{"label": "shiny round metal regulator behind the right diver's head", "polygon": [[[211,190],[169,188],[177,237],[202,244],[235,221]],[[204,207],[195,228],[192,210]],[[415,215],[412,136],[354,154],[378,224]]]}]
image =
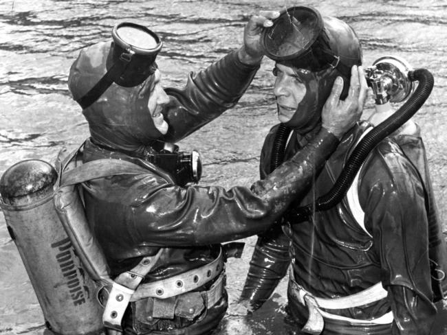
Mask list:
[{"label": "shiny round metal regulator behind the right diver's head", "polygon": [[402,102],[413,92],[414,84],[408,78],[411,66],[403,58],[384,56],[367,67],[368,86],[373,89],[375,104]]}]

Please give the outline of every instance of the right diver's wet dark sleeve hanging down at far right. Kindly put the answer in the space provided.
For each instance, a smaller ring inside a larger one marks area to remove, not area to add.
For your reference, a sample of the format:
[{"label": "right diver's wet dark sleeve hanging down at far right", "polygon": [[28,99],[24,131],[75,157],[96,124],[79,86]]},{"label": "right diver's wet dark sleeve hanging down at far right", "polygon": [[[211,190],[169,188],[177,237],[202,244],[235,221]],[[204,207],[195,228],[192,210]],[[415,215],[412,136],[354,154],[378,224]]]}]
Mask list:
[{"label": "right diver's wet dark sleeve hanging down at far right", "polygon": [[375,157],[361,181],[360,204],[389,292],[392,334],[429,334],[436,309],[424,189],[413,165],[399,154]]}]

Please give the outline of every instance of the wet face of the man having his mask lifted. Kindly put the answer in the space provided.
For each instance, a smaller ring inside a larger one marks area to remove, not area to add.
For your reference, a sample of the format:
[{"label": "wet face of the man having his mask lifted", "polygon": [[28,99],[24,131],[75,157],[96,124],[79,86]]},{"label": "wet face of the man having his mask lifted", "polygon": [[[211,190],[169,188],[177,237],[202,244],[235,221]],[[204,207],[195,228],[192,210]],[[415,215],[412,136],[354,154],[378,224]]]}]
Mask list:
[{"label": "wet face of the man having his mask lifted", "polygon": [[292,67],[276,64],[273,74],[276,76],[274,95],[278,104],[278,119],[282,123],[289,122],[306,94],[306,85],[299,71]]}]

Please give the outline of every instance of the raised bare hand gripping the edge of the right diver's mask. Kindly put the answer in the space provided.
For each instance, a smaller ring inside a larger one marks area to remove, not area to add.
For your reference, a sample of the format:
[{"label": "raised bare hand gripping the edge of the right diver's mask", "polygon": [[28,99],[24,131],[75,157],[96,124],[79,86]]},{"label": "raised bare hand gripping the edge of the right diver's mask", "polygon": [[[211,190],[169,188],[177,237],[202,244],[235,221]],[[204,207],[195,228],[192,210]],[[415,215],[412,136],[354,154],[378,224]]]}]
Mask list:
[{"label": "raised bare hand gripping the edge of the right diver's mask", "polygon": [[259,63],[263,57],[261,34],[267,27],[272,27],[272,19],[279,17],[279,12],[261,10],[254,15],[243,29],[243,47],[239,49],[239,60],[245,64]]}]

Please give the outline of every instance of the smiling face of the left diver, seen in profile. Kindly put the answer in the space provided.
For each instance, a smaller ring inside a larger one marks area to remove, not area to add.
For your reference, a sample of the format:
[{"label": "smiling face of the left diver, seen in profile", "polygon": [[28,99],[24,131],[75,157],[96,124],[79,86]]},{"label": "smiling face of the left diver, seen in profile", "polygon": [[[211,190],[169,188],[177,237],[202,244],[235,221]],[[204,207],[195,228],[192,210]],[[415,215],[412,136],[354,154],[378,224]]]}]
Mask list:
[{"label": "smiling face of the left diver, seen in profile", "polygon": [[149,113],[153,120],[153,124],[158,131],[163,135],[168,132],[168,124],[164,121],[162,114],[164,105],[169,102],[169,96],[164,91],[161,84],[161,73],[157,69],[153,73],[154,79],[151,83],[149,100],[147,102],[147,107],[149,108]]}]

